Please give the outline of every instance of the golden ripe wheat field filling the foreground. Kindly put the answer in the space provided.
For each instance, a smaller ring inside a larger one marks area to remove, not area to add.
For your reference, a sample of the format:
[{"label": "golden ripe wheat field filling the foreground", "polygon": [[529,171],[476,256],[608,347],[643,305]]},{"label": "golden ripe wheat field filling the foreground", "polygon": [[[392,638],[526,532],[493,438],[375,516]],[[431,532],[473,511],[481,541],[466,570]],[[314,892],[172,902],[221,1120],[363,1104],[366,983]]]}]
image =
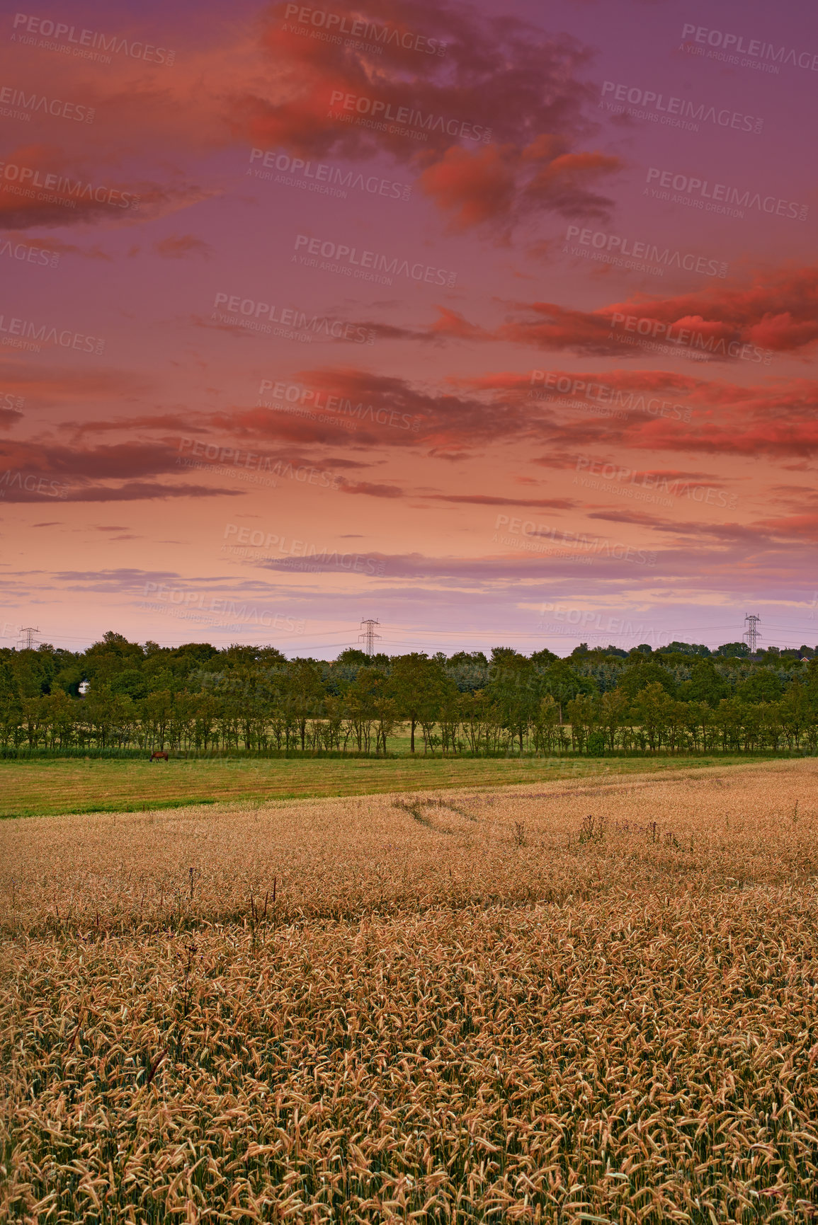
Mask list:
[{"label": "golden ripe wheat field filling the foreground", "polygon": [[816,1219],[817,774],[4,822],[0,1212]]}]

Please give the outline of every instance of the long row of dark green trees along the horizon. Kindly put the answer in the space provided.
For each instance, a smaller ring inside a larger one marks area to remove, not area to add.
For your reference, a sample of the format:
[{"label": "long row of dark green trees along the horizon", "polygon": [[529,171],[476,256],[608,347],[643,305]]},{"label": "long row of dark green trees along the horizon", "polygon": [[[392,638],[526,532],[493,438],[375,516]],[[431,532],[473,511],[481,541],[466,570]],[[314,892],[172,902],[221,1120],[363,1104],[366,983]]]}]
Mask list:
[{"label": "long row of dark green trees along the horizon", "polygon": [[76,752],[816,752],[818,653],[673,642],[568,658],[482,652],[286,659],[109,631],[82,653],[0,650],[0,747]]}]

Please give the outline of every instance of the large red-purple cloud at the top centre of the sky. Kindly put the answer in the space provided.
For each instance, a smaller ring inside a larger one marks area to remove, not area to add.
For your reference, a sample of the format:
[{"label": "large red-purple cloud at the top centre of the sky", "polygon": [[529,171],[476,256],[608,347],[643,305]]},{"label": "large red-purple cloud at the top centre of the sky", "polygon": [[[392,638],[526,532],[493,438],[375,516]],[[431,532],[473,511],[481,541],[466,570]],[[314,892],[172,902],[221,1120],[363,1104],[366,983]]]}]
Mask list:
[{"label": "large red-purple cloud at the top centre of the sky", "polygon": [[[421,191],[453,228],[500,239],[532,213],[610,212],[597,184],[621,163],[578,148],[596,91],[580,80],[590,53],[575,39],[433,0],[370,0],[367,11],[367,37],[383,55],[354,45],[341,53],[283,2],[271,5],[260,36],[271,83],[234,91],[235,136],[302,158],[386,153],[421,172]],[[413,49],[419,31],[423,51]]]}]

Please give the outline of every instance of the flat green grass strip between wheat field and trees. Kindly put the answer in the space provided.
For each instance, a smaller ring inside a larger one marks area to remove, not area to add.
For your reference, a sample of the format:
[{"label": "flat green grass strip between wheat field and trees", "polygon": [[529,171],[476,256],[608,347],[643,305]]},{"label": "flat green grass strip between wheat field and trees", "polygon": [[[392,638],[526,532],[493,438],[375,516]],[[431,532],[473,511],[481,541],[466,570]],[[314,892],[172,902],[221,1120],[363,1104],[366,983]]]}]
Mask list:
[{"label": "flat green grass strip between wheat field and trees", "polygon": [[[697,768],[747,764],[748,756],[694,758]],[[369,795],[493,786],[598,774],[678,771],[675,757],[388,758],[34,758],[0,761],[0,817],[132,812],[215,801]]]}]

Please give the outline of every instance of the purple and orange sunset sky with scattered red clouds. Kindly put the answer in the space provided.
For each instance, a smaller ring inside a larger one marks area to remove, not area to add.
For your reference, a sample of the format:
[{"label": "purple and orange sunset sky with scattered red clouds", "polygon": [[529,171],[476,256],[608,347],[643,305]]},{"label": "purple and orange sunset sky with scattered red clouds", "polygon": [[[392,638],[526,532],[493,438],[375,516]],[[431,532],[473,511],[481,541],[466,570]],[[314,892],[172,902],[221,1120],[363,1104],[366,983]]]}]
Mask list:
[{"label": "purple and orange sunset sky with scattered red clouds", "polygon": [[0,16],[0,646],[818,642],[818,13]]}]

